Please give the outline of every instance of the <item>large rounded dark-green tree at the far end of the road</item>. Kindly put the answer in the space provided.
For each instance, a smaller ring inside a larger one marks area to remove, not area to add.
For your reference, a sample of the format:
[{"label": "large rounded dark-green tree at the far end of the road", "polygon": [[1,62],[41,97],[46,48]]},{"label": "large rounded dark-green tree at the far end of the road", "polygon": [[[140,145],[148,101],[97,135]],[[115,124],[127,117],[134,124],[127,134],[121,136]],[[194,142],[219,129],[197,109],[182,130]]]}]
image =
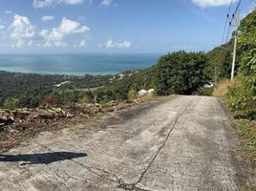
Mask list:
[{"label": "large rounded dark-green tree at the far end of the road", "polygon": [[191,95],[208,83],[204,53],[168,53],[154,68],[154,86],[160,96]]}]

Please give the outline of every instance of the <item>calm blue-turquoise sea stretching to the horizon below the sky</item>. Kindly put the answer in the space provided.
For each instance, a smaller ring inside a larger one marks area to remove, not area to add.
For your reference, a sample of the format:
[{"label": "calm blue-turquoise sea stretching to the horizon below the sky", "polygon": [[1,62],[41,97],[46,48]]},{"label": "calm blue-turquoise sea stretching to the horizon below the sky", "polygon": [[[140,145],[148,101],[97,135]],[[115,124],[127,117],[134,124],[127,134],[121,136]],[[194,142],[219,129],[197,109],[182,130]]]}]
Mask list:
[{"label": "calm blue-turquoise sea stretching to the horizon below the sky", "polygon": [[158,53],[0,54],[0,71],[29,74],[118,74],[153,66]]}]

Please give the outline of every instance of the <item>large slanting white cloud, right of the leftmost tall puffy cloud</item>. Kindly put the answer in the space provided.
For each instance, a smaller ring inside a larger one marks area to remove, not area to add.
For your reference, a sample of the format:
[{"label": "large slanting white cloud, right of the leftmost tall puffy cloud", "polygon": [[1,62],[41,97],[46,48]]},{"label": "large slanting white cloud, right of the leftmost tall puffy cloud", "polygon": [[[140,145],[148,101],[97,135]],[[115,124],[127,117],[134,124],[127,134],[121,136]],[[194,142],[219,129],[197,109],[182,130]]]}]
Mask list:
[{"label": "large slanting white cloud, right of the leftmost tall puffy cloud", "polygon": [[63,17],[58,28],[53,28],[51,32],[48,30],[43,30],[40,32],[40,35],[47,41],[61,41],[66,35],[88,31],[90,31],[88,27]]}]

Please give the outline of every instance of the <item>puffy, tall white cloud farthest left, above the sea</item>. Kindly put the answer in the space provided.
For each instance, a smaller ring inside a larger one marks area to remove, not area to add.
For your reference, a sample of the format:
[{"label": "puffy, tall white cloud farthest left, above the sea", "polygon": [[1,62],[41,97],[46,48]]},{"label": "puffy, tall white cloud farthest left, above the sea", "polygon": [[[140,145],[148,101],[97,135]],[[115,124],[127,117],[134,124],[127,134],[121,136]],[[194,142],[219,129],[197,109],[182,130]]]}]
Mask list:
[{"label": "puffy, tall white cloud farthest left, above the sea", "polygon": [[13,23],[11,24],[11,38],[32,38],[35,34],[34,27],[32,26],[30,19],[26,16],[15,15]]}]

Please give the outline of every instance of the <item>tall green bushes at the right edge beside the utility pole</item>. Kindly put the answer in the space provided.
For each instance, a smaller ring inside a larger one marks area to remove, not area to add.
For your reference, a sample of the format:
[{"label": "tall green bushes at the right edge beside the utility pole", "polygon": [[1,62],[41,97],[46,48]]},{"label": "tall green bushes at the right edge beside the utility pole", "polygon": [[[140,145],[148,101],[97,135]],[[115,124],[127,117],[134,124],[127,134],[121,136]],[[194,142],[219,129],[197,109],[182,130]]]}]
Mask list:
[{"label": "tall green bushes at the right edge beside the utility pole", "polygon": [[256,11],[241,22],[239,69],[236,83],[226,94],[228,107],[236,117],[256,118]]}]

